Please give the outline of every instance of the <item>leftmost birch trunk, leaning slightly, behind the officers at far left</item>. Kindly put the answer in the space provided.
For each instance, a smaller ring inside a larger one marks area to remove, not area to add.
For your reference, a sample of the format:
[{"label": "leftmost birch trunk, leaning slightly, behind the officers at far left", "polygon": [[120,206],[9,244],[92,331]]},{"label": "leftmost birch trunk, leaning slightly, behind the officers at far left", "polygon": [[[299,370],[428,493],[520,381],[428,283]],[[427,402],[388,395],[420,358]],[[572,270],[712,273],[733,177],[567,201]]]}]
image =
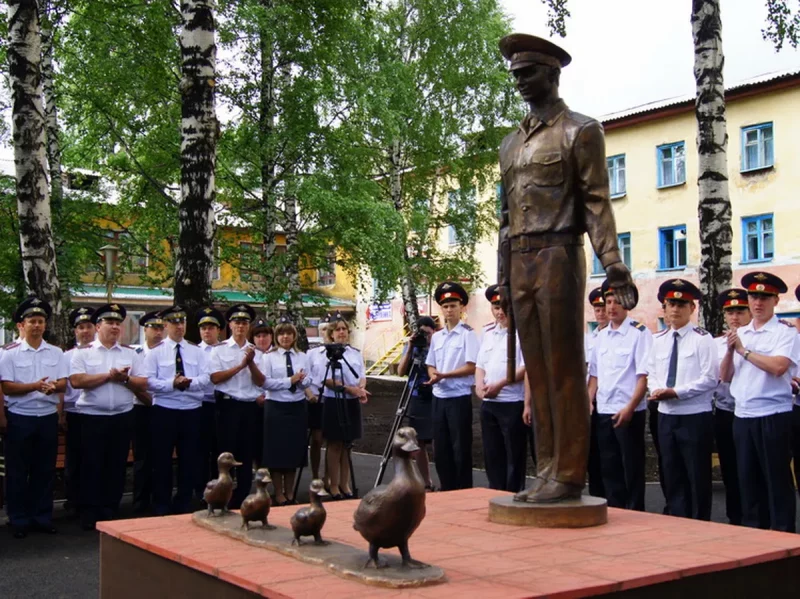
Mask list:
[{"label": "leftmost birch trunk, leaning slightly, behind the officers at far left", "polygon": [[[8,3],[8,67],[22,270],[28,293],[61,312],[45,157],[41,34],[36,0]],[[63,340],[55,340],[59,342]]]}]

